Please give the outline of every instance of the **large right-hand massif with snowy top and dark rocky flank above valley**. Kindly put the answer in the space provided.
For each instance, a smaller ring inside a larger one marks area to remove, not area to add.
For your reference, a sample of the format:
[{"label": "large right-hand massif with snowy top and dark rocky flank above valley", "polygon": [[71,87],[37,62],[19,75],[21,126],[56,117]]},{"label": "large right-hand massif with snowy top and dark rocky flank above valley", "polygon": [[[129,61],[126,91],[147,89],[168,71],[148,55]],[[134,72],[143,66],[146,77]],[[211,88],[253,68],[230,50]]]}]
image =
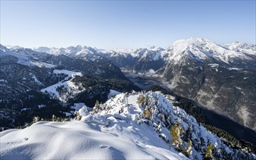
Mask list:
[{"label": "large right-hand massif with snowy top and dark rocky flank above valley", "polygon": [[225,48],[205,39],[178,41],[167,49],[169,60],[159,73],[178,95],[256,129],[255,46],[232,46]]}]

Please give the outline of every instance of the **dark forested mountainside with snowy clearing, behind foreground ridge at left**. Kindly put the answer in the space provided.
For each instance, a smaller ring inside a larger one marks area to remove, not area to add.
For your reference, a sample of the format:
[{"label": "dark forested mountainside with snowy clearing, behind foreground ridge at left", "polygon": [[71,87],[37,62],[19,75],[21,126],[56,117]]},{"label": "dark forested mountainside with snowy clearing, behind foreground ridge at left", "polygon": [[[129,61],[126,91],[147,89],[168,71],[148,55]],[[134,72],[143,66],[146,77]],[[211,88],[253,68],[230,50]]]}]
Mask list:
[{"label": "dark forested mountainside with snowy clearing, behind foreground ridge at left", "polygon": [[29,123],[33,116],[65,117],[74,112],[74,103],[93,107],[96,100],[108,100],[110,89],[139,89],[103,57],[78,59],[4,46],[0,88],[0,124],[10,128]]}]

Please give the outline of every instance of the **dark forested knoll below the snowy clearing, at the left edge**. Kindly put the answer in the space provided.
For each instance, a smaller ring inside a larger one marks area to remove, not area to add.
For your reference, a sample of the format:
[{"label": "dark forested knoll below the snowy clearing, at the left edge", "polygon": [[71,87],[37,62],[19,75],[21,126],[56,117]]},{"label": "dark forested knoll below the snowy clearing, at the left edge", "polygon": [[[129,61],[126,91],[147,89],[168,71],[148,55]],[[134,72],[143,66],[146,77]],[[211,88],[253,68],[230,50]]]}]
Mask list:
[{"label": "dark forested knoll below the snowy clearing, at the left edge", "polygon": [[15,128],[33,121],[34,116],[50,119],[53,115],[65,118],[72,109],[43,92],[31,91],[14,100],[0,101],[0,127]]}]

